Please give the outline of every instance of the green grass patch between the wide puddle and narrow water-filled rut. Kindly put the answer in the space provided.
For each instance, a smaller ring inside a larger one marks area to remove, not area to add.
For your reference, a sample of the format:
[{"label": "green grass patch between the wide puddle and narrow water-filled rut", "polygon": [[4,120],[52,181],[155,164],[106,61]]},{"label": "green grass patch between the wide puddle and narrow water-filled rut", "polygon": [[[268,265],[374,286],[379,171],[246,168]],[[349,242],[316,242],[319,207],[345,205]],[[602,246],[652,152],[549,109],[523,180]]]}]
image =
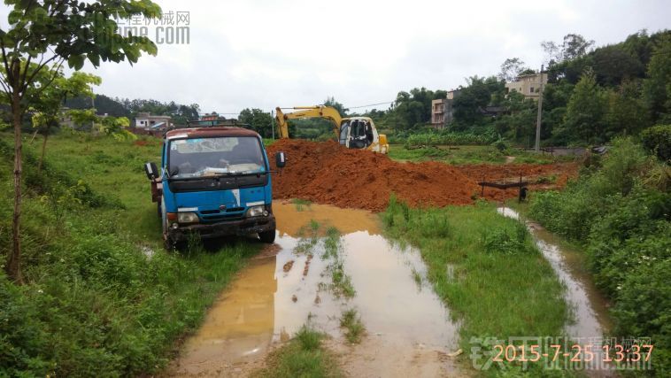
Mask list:
[{"label": "green grass patch between the wide puddle and narrow water-filled rut", "polygon": [[494,205],[411,209],[392,197],[382,220],[386,235],[419,247],[464,351],[472,337],[562,335],[565,288],[526,228]]}]

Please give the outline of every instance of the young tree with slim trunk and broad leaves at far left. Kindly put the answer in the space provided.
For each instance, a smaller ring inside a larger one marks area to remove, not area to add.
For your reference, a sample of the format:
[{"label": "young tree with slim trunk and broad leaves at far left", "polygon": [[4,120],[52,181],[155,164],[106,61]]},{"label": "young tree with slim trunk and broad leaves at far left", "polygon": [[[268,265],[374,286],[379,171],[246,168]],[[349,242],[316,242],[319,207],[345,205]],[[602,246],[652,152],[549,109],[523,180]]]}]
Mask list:
[{"label": "young tree with slim trunk and broad leaves at far left", "polygon": [[5,0],[10,6],[9,26],[0,29],[0,50],[4,72],[0,86],[12,110],[14,127],[14,211],[12,217],[12,252],[5,270],[14,282],[22,282],[20,270],[21,216],[21,121],[30,106],[27,92],[43,71],[51,73],[46,85],[36,96],[49,88],[59,68],[68,66],[79,71],[84,61],[93,66],[102,61],[137,62],[142,52],[156,54],[156,45],[149,38],[120,35],[115,17],[127,19],[135,15],[148,18],[160,16],[160,7],[150,0]]}]

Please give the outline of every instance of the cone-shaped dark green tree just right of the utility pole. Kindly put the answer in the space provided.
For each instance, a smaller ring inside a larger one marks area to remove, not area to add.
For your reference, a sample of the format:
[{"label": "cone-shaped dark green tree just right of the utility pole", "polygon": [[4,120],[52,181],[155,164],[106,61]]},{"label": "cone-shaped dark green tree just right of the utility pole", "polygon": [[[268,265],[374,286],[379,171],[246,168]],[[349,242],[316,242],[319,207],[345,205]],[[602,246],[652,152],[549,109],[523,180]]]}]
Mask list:
[{"label": "cone-shaped dark green tree just right of the utility pole", "polygon": [[582,75],[568,101],[561,131],[568,140],[603,142],[605,96],[591,71]]}]

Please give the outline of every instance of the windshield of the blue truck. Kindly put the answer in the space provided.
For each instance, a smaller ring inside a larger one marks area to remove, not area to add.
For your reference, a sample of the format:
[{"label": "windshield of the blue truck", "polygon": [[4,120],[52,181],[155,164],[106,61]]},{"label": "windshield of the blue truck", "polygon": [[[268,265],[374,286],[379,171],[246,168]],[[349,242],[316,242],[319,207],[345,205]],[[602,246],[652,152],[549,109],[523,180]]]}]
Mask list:
[{"label": "windshield of the blue truck", "polygon": [[265,171],[261,145],[253,136],[176,139],[170,142],[168,172],[174,178]]}]

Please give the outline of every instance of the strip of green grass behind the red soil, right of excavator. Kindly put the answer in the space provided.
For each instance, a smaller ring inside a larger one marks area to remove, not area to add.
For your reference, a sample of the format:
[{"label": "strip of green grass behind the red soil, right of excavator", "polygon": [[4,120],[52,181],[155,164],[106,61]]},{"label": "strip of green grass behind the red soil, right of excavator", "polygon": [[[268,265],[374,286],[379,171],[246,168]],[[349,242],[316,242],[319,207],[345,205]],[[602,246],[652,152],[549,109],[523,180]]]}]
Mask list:
[{"label": "strip of green grass behind the red soil, right of excavator", "polygon": [[408,149],[403,144],[389,146],[389,158],[398,161],[441,161],[452,165],[505,164],[506,156],[515,158],[512,164],[549,164],[567,159],[515,149],[499,151],[492,146],[431,146],[415,149]]}]

